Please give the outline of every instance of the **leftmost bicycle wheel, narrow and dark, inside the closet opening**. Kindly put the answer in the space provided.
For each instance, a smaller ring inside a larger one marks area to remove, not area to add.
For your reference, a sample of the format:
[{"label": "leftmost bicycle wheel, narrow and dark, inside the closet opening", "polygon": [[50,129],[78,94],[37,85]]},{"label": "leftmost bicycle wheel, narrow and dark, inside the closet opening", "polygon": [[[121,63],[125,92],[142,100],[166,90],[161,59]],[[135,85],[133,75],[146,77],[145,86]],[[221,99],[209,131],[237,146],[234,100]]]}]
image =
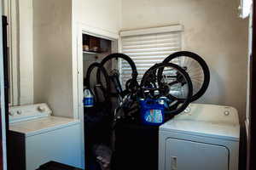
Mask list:
[{"label": "leftmost bicycle wheel, narrow and dark, inside the closet opening", "polygon": [[[100,77],[98,81],[96,78],[96,73],[100,72]],[[90,89],[90,92],[92,92],[92,94],[94,94],[94,96],[98,96],[96,95],[97,92],[95,91],[96,89],[101,90],[101,94],[103,94],[103,98],[104,99],[96,99],[96,101],[102,101],[102,100],[106,100],[109,97],[109,79],[108,79],[108,72],[105,70],[104,67],[102,67],[102,65],[100,63],[92,63],[87,72],[86,72],[86,77],[84,79],[84,85]],[[98,97],[97,97],[98,98]]]}]

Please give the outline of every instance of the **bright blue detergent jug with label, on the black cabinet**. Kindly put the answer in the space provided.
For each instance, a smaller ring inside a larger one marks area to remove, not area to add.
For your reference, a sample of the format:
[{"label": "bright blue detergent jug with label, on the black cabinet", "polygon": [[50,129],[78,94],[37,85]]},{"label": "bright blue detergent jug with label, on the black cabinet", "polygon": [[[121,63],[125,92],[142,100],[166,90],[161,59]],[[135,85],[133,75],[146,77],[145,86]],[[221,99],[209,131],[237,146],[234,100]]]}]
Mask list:
[{"label": "bright blue detergent jug with label, on the black cabinet", "polygon": [[143,124],[158,126],[165,120],[165,105],[159,99],[141,99],[141,119]]}]

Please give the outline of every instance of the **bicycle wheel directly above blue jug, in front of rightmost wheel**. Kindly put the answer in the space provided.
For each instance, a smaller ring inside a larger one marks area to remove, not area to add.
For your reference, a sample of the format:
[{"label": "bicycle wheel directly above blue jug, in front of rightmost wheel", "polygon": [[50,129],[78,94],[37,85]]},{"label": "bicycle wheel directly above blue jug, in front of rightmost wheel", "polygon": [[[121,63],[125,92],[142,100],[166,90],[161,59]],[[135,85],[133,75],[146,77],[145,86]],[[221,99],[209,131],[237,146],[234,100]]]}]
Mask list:
[{"label": "bicycle wheel directly above blue jug, in front of rightmost wheel", "polygon": [[[160,76],[159,71],[161,71]],[[169,109],[167,112],[172,115],[184,111],[193,94],[188,73],[172,63],[160,63],[149,68],[143,75],[141,90],[143,91],[141,94],[148,95],[143,98],[166,97],[166,106]]]}]

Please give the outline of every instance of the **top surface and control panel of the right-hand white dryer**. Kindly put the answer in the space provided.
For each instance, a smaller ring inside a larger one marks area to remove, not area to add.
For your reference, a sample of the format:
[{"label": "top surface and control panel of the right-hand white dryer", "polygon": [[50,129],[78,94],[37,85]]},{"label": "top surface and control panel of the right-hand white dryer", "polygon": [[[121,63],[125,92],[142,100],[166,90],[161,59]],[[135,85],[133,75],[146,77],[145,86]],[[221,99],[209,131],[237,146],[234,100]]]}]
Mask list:
[{"label": "top surface and control panel of the right-hand white dryer", "polygon": [[161,125],[160,131],[236,141],[240,137],[236,109],[222,105],[190,104],[183,113]]}]

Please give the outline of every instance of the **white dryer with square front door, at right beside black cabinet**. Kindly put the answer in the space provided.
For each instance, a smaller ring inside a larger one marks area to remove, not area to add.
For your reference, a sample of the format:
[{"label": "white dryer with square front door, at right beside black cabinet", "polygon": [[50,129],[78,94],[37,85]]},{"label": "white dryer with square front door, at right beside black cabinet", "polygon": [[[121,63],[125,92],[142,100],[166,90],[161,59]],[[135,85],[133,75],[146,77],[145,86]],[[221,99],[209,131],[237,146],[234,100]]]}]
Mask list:
[{"label": "white dryer with square front door, at right beside black cabinet", "polygon": [[235,108],[191,104],[160,126],[159,170],[238,170]]}]

